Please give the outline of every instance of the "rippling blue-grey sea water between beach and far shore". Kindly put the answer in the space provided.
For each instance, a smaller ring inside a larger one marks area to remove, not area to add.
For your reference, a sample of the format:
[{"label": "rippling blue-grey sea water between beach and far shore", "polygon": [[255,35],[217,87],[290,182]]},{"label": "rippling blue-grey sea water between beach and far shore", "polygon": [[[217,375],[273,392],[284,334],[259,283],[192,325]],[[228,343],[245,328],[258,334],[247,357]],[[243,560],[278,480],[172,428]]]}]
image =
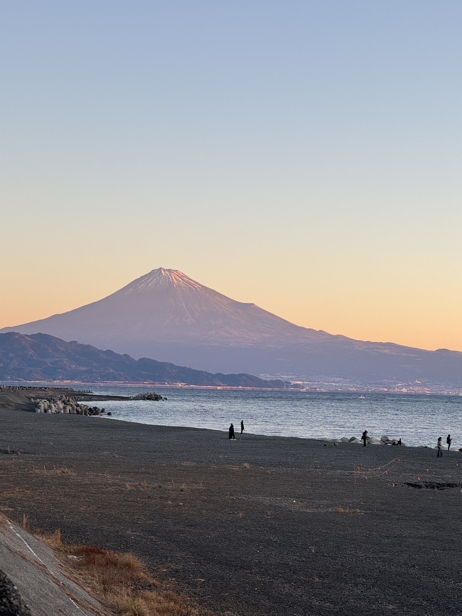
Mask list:
[{"label": "rippling blue-grey sea water between beach and far shore", "polygon": [[[144,424],[189,426],[302,438],[370,436],[401,438],[407,445],[436,446],[439,436],[453,436],[462,447],[462,396],[229,391],[209,389],[94,387],[99,394],[136,395],[156,391],[166,402],[105,402],[113,419]],[[99,404],[101,406],[101,404]]]}]

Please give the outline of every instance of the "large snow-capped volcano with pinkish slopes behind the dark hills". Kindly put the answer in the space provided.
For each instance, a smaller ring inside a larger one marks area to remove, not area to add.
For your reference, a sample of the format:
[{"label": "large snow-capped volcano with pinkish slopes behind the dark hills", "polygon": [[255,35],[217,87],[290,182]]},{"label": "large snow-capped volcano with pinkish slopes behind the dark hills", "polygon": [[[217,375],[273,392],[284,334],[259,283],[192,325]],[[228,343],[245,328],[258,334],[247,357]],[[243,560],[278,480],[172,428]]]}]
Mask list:
[{"label": "large snow-capped volcano with pinkish slopes behind the dark hills", "polygon": [[304,328],[163,268],[92,304],[0,333],[7,331],[46,333],[213,372],[462,387],[460,352],[362,342]]}]

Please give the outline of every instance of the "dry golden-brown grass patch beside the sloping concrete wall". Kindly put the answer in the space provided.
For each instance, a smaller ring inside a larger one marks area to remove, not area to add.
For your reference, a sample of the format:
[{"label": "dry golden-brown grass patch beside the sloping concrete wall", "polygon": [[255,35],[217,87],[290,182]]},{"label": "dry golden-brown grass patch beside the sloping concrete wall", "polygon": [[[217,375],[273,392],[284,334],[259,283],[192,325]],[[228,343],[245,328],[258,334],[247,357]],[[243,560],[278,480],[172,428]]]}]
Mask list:
[{"label": "dry golden-brown grass patch beside the sloping concrete wall", "polygon": [[118,616],[214,616],[155,580],[133,554],[65,545],[59,530],[37,537],[65,559],[82,588]]}]

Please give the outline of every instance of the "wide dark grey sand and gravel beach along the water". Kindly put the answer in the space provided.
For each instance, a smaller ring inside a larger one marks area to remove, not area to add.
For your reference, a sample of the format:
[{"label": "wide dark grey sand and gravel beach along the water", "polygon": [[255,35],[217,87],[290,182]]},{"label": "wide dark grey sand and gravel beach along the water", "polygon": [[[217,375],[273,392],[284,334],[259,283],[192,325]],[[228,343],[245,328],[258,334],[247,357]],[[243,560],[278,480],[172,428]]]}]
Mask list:
[{"label": "wide dark grey sand and gravel beach along the water", "polygon": [[130,551],[221,615],[462,612],[459,452],[234,441],[24,395],[0,400],[0,510],[33,531]]}]

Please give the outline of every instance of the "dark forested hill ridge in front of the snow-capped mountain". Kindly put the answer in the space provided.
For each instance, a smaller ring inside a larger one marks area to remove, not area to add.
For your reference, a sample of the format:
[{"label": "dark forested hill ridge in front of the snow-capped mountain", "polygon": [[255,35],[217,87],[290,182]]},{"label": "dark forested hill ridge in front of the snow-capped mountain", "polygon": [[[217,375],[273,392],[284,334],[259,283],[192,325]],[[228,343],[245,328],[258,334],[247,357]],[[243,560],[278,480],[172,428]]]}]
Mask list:
[{"label": "dark forested hill ridge in front of the snow-capped mountain", "polygon": [[256,376],[211,374],[201,370],[133,359],[89,344],[65,342],[49,334],[0,334],[0,381],[122,381],[185,383],[229,387],[283,387],[283,381]]}]

